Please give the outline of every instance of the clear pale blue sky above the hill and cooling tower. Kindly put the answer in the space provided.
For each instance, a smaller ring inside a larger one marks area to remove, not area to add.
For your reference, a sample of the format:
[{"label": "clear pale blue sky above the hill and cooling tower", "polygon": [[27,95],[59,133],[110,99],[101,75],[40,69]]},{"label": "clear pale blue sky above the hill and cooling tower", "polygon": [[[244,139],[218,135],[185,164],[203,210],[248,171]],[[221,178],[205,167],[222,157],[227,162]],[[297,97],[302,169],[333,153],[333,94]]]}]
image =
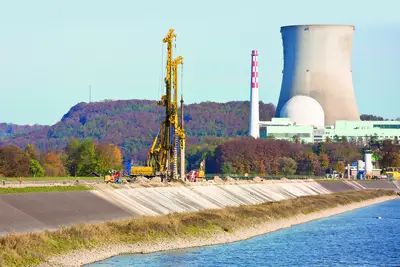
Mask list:
[{"label": "clear pale blue sky above the hill and cooling tower", "polygon": [[[53,124],[78,102],[158,99],[162,38],[175,28],[188,103],[248,100],[259,50],[260,99],[278,101],[280,26],[352,24],[361,113],[400,117],[400,2],[0,0],[0,122]],[[175,55],[178,55],[175,54]]]}]

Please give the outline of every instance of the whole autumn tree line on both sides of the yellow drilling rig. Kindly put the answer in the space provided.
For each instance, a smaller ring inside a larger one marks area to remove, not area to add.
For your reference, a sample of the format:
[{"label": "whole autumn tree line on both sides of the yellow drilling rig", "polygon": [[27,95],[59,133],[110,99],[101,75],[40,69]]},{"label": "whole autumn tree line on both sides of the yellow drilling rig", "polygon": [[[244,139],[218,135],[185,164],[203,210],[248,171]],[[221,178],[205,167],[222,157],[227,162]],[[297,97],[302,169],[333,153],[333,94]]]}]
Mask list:
[{"label": "whole autumn tree line on both sides of the yellow drilling rig", "polygon": [[[357,142],[301,144],[274,139],[205,137],[186,151],[186,170],[198,169],[205,159],[206,173],[268,175],[324,175],[363,160],[365,147]],[[368,146],[380,168],[400,167],[398,140]],[[0,148],[0,176],[57,177],[104,175],[122,168],[120,148],[111,143],[95,144],[93,139],[72,139],[64,150],[38,152],[32,144]]]}]

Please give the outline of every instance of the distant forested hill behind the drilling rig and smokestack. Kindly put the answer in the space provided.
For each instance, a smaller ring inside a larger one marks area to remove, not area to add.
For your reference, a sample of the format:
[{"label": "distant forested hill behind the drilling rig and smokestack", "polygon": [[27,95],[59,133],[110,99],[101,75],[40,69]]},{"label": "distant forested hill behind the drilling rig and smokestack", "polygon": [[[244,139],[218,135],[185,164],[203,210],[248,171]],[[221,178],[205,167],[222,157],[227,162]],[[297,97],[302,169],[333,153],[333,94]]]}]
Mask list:
[{"label": "distant forested hill behind the drilling rig and smokestack", "polygon": [[[260,102],[260,119],[274,116],[273,104]],[[150,100],[118,100],[79,103],[61,121],[49,127],[0,140],[0,146],[32,143],[40,150],[63,149],[71,138],[94,138],[118,145],[125,158],[143,159],[164,119],[162,107]],[[209,136],[237,137],[247,134],[249,101],[203,102],[185,106],[188,144]],[[213,138],[211,138],[213,139]]]}]

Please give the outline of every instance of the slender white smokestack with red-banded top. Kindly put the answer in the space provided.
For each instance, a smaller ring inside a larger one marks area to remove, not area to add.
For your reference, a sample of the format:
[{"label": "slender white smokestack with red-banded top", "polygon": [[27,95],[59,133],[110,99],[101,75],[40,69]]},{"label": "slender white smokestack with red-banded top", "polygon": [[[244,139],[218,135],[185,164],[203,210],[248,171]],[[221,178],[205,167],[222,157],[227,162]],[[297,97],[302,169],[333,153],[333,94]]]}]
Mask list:
[{"label": "slender white smokestack with red-banded top", "polygon": [[258,51],[251,51],[251,82],[250,82],[250,126],[249,134],[254,138],[260,136],[259,106],[258,106]]}]

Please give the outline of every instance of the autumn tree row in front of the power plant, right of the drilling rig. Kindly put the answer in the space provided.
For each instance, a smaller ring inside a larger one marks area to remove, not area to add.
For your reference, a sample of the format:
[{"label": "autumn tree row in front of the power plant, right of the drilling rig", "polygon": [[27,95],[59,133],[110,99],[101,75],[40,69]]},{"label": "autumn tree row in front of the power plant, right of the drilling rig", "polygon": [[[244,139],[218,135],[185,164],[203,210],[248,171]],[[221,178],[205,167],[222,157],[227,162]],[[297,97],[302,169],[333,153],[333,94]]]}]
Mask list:
[{"label": "autumn tree row in front of the power plant, right of the drilling rig", "polygon": [[[400,167],[400,145],[397,140],[376,141],[370,148],[380,168]],[[188,169],[206,160],[207,173],[256,175],[324,175],[363,160],[365,147],[357,142],[301,144],[274,139],[236,138],[218,144],[203,144],[189,149]],[[197,167],[198,168],[198,167]]]}]

